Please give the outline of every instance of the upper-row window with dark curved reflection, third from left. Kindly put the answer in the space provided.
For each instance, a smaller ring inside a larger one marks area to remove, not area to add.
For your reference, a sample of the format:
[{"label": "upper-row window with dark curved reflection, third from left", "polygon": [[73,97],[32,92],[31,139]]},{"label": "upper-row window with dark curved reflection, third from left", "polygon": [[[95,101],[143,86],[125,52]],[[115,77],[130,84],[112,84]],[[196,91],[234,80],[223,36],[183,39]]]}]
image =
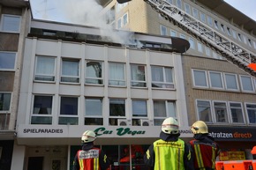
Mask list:
[{"label": "upper-row window with dark curved reflection, third from left", "polygon": [[103,84],[103,67],[102,62],[97,61],[87,61],[86,69],[86,83],[102,85]]}]

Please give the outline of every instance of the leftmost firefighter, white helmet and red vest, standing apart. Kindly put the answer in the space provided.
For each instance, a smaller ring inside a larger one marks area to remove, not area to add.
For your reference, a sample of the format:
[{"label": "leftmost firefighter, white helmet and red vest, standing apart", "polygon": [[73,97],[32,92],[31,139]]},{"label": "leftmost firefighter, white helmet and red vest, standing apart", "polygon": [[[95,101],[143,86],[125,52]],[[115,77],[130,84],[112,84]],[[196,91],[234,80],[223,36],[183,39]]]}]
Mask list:
[{"label": "leftmost firefighter, white helmet and red vest, standing apart", "polygon": [[106,170],[109,168],[107,155],[99,148],[94,147],[96,135],[87,130],[81,137],[82,150],[76,153],[73,161],[73,170]]}]

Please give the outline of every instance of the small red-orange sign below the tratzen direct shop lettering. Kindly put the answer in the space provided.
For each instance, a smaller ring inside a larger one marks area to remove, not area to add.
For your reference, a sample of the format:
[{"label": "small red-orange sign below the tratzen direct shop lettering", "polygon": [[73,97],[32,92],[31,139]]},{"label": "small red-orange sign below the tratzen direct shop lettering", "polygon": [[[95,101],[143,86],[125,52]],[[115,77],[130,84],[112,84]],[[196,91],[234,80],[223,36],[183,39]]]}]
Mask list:
[{"label": "small red-orange sign below the tratzen direct shop lettering", "polygon": [[225,160],[245,160],[245,152],[220,152],[219,159]]}]

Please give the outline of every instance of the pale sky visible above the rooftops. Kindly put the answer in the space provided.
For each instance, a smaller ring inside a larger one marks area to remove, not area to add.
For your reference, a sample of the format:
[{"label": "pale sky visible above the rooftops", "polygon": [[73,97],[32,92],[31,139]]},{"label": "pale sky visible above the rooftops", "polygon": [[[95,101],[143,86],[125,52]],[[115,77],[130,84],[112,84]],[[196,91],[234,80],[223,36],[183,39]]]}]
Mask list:
[{"label": "pale sky visible above the rooftops", "polygon": [[[256,21],[256,0],[224,0],[237,10]],[[83,11],[92,11],[98,15],[101,6],[95,6],[93,0],[30,0],[34,18],[72,22],[79,15],[85,16]],[[89,4],[89,5],[88,5]],[[65,9],[65,10],[64,10]],[[89,18],[89,16],[87,15]],[[80,18],[82,19],[82,18]],[[85,21],[85,20],[83,20]]]}]

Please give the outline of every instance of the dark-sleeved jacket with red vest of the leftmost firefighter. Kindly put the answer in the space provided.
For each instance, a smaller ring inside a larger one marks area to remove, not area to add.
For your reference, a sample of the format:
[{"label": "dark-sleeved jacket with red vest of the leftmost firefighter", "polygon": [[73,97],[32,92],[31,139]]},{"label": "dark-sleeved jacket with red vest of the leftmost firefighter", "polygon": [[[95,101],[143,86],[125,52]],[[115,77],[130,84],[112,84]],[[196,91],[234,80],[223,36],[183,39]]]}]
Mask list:
[{"label": "dark-sleeved jacket with red vest of the leftmost firefighter", "polygon": [[109,159],[99,148],[83,147],[75,156],[73,170],[106,170]]}]

